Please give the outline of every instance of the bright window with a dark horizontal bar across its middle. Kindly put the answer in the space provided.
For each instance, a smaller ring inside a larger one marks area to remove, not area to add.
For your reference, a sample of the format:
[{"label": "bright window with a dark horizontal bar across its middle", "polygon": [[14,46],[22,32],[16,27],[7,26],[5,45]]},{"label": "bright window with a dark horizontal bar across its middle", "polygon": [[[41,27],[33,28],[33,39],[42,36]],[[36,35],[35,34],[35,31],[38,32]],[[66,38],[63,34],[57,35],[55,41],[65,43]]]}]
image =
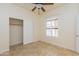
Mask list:
[{"label": "bright window with a dark horizontal bar across its middle", "polygon": [[46,20],[46,35],[47,36],[58,36],[58,20],[57,19],[49,19]]}]

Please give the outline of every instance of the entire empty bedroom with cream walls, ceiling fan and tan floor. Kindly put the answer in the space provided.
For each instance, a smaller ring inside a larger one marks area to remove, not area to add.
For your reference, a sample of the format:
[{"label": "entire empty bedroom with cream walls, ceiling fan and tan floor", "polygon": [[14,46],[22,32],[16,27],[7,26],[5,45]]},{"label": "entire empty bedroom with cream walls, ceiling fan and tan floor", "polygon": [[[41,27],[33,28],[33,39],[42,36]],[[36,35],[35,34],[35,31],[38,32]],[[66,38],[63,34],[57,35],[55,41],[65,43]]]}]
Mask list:
[{"label": "entire empty bedroom with cream walls, ceiling fan and tan floor", "polygon": [[79,3],[0,3],[0,56],[79,56]]}]

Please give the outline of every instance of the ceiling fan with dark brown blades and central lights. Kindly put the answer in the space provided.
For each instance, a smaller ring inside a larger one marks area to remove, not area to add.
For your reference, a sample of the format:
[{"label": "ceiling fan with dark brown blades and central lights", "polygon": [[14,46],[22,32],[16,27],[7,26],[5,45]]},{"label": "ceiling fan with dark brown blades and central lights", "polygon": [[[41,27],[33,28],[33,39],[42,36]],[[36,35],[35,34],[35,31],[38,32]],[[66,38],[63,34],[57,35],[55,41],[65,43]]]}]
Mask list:
[{"label": "ceiling fan with dark brown blades and central lights", "polygon": [[32,11],[35,11],[36,9],[42,10],[43,12],[45,12],[45,8],[43,7],[44,5],[53,5],[54,3],[33,3],[35,4],[35,6],[33,7]]}]

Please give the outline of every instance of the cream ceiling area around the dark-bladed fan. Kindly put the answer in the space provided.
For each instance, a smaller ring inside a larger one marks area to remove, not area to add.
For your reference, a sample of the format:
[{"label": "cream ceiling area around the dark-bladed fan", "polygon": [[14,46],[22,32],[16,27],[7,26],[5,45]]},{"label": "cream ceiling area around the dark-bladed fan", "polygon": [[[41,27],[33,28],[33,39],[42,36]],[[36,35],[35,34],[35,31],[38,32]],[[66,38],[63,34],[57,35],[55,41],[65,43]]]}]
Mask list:
[{"label": "cream ceiling area around the dark-bladed fan", "polygon": [[[32,12],[32,8],[35,6],[35,4],[32,3],[15,3],[15,5],[23,7],[25,9],[28,9],[29,11]],[[55,7],[59,7],[62,6],[63,3],[54,3],[54,5],[43,5],[43,7],[45,8],[46,12],[50,11],[51,9],[55,8]],[[37,10],[34,11],[35,13],[38,12]],[[43,11],[40,11],[40,13],[44,13]]]}]

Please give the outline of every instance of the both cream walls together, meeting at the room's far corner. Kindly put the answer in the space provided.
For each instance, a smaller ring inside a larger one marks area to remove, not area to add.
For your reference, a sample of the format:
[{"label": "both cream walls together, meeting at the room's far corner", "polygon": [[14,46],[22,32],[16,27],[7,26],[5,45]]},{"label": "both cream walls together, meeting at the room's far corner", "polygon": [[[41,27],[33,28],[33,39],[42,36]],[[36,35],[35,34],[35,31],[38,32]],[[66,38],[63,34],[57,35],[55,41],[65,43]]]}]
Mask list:
[{"label": "both cream walls together, meeting at the room's far corner", "polygon": [[[24,21],[24,44],[41,40],[74,50],[77,6],[77,4],[63,4],[38,17],[16,5],[0,4],[0,53],[9,50],[9,17]],[[45,36],[44,21],[50,17],[57,17],[59,20],[59,37],[54,40],[49,40]]]}]

